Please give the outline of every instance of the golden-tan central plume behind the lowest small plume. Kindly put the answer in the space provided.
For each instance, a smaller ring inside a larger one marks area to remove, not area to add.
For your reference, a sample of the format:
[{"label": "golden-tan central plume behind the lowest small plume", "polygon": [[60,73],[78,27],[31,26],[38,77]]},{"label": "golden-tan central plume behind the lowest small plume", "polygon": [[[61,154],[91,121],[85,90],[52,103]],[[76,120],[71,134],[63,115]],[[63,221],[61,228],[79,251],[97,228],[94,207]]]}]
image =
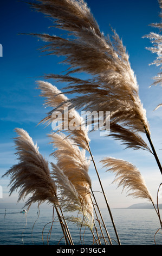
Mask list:
[{"label": "golden-tan central plume behind the lowest small plume", "polygon": [[87,205],[87,211],[92,214],[93,205],[90,200],[92,184],[88,174],[90,162],[86,159],[85,150],[80,150],[74,141],[63,133],[53,133],[49,137],[56,148],[51,155],[57,160],[57,167],[72,182],[81,200]]}]

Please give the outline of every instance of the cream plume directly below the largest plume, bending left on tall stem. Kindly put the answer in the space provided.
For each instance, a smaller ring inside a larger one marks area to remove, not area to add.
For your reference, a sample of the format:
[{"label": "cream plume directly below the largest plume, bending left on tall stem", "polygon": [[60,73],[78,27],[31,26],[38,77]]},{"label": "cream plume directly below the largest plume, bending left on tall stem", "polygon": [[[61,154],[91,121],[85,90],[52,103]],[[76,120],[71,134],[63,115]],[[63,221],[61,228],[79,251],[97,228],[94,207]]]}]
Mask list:
[{"label": "cream plume directly below the largest plume, bending left on tall stem", "polygon": [[40,123],[49,125],[59,121],[60,126],[57,125],[57,129],[68,131],[75,144],[89,151],[87,146],[90,141],[88,129],[83,124],[80,114],[74,108],[68,108],[68,98],[51,83],[37,81],[37,84],[37,88],[41,90],[40,96],[45,98],[44,106],[52,108],[47,117],[41,120]]}]

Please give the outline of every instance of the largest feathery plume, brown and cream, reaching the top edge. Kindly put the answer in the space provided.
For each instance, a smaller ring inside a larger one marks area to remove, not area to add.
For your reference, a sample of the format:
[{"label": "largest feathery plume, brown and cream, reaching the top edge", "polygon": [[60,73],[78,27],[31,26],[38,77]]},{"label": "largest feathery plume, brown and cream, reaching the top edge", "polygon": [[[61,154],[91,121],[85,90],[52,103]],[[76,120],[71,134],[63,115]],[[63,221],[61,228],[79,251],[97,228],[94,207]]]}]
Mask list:
[{"label": "largest feathery plume, brown and cream, reaching the top edge", "polygon": [[54,26],[70,32],[68,39],[34,34],[48,42],[43,51],[64,56],[63,63],[70,66],[69,73],[77,71],[92,75],[92,79],[86,81],[76,81],[67,75],[53,76],[63,82],[71,80],[74,91],[84,95],[74,98],[72,105],[90,111],[111,111],[112,121],[150,133],[137,80],[118,34],[113,31],[112,40],[104,36],[82,0],[39,1],[31,6],[52,18]]}]

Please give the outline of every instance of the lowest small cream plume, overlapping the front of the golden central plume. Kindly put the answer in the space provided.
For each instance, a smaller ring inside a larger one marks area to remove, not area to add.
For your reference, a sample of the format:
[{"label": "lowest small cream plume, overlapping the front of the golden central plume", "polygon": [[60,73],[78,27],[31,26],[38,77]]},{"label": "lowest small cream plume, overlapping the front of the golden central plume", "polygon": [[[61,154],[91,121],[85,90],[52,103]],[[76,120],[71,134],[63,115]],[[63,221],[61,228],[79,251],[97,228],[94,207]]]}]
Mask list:
[{"label": "lowest small cream plume, overlapping the front of the golden central plume", "polygon": [[[82,220],[82,225],[87,225],[92,230],[94,225],[93,204],[90,200],[88,187],[86,188],[85,184],[85,187],[82,187],[81,191],[79,184],[75,184],[74,186],[73,182],[69,180],[68,176],[56,164],[51,163],[51,166],[53,169],[51,175],[54,177],[59,188],[61,208],[66,212],[77,212],[77,215],[82,216],[66,218],[77,224]],[[88,201],[87,198],[89,198]]]}]

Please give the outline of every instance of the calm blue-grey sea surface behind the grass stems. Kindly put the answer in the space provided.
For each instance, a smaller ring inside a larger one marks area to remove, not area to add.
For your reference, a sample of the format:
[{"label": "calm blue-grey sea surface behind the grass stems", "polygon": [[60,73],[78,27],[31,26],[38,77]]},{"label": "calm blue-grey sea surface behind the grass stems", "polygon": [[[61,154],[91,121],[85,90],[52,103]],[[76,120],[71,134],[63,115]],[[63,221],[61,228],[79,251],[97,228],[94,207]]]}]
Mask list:
[{"label": "calm blue-grey sea surface behind the grass stems", "polygon": [[[112,214],[121,245],[162,245],[162,234],[157,214],[154,210],[112,209]],[[161,212],[162,214],[162,212]],[[107,230],[116,244],[116,237],[108,217],[107,209],[102,209]],[[17,209],[0,209],[0,245],[64,245],[60,224],[53,220],[53,209],[30,209],[27,214]],[[52,229],[51,229],[51,225]],[[80,229],[76,224],[68,227],[75,245],[92,245],[92,234],[88,229]],[[51,231],[51,232],[50,232]],[[154,234],[155,242],[154,242]]]}]

